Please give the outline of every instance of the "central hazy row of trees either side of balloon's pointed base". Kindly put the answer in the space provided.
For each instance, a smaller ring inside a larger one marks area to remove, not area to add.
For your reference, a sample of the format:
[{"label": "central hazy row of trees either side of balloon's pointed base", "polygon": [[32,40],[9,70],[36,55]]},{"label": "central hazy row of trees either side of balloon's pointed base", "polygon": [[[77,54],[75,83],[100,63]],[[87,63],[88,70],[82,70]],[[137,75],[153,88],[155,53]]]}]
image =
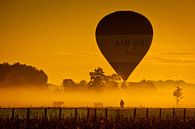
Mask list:
[{"label": "central hazy row of trees either side of balloon's pointed base", "polygon": [[90,88],[90,89],[103,89],[103,88],[150,88],[155,89],[153,81],[143,79],[140,82],[123,82],[122,78],[117,74],[106,75],[102,68],[98,67],[94,71],[89,72],[90,81],[81,80],[75,83],[72,79],[63,79],[62,86],[64,88]]}]

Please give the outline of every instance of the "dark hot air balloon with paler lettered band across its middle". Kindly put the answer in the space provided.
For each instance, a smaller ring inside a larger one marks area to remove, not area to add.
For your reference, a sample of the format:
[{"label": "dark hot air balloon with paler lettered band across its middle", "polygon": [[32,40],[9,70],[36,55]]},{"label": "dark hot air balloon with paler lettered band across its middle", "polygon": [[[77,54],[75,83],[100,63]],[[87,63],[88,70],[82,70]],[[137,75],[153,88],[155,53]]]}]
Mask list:
[{"label": "dark hot air balloon with paler lettered band across its middle", "polygon": [[96,28],[100,51],[124,81],[147,53],[152,37],[150,21],[133,11],[111,13]]}]

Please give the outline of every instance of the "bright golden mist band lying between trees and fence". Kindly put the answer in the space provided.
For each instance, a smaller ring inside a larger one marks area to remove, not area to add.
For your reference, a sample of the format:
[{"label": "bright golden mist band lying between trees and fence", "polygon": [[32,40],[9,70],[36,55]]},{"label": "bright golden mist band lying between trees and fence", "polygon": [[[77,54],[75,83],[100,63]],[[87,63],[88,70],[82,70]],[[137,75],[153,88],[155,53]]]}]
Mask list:
[{"label": "bright golden mist band lying between trees and fence", "polygon": [[[183,98],[179,108],[193,108],[195,87],[181,86]],[[57,88],[57,90],[56,90]],[[9,87],[0,89],[1,107],[52,107],[53,102],[63,101],[65,107],[94,107],[103,103],[104,107],[119,107],[123,99],[125,107],[177,107],[173,91],[176,86],[156,86],[155,89],[128,88],[103,89],[63,89],[53,86],[49,89],[32,87]]]}]

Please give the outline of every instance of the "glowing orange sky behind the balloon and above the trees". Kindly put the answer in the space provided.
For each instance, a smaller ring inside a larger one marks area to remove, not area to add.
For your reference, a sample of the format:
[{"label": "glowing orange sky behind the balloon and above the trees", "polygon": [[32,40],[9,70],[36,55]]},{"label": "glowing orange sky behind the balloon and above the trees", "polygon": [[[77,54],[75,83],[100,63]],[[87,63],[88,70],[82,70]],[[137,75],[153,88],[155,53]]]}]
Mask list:
[{"label": "glowing orange sky behind the balloon and above the trees", "polygon": [[194,7],[194,0],[1,0],[0,63],[36,66],[55,84],[89,80],[96,67],[114,73],[97,47],[95,29],[105,15],[131,10],[151,21],[154,39],[128,81],[195,83]]}]

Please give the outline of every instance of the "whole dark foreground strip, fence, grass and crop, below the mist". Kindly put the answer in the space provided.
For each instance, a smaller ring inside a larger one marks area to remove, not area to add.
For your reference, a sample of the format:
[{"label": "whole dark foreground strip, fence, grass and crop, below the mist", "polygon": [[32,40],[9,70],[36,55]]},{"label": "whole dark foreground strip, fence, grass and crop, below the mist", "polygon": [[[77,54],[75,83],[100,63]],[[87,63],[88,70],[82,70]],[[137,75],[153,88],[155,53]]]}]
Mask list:
[{"label": "whole dark foreground strip, fence, grass and crop, below the mist", "polygon": [[195,129],[195,109],[0,108],[0,129]]}]

